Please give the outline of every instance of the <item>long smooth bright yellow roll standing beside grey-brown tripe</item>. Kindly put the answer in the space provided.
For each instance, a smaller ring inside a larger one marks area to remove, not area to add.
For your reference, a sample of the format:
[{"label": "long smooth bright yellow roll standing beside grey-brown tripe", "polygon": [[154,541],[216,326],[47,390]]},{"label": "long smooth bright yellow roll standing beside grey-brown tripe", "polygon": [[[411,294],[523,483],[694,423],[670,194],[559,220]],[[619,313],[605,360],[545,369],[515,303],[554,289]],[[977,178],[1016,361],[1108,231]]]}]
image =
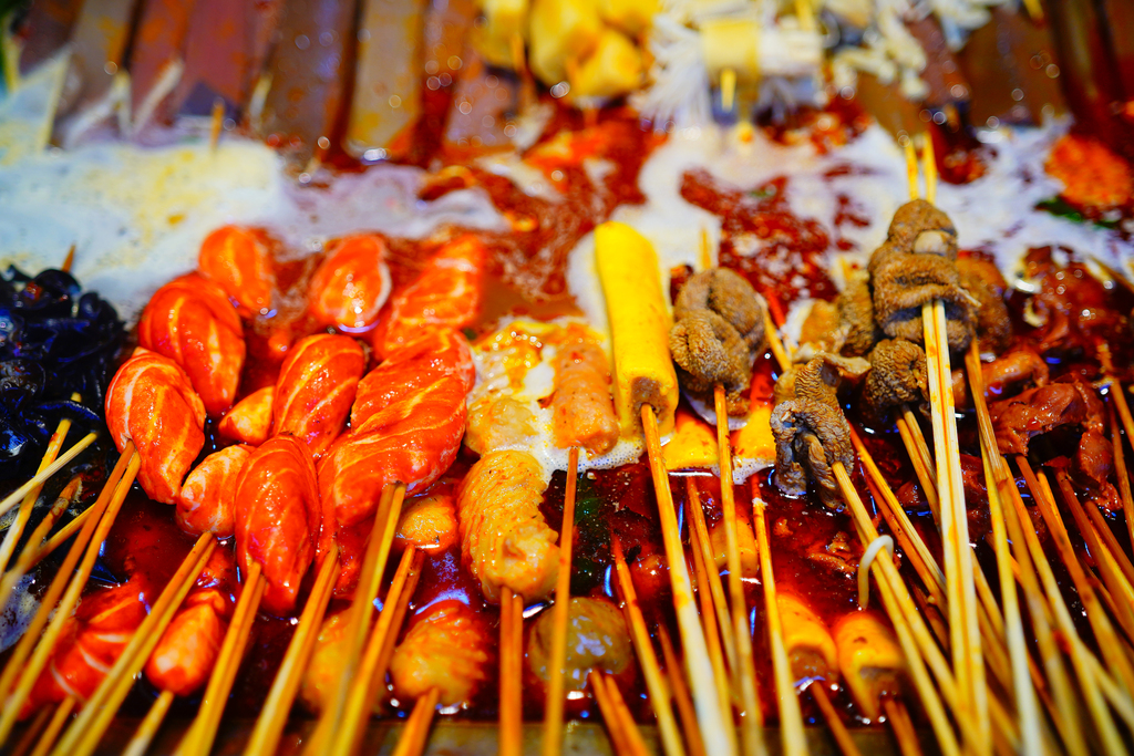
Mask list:
[{"label": "long smooth bright yellow roll standing beside grey-brown tripe", "polygon": [[672,317],[661,290],[658,255],[629,226],[607,222],[594,230],[594,260],[607,298],[615,408],[623,433],[637,432],[642,405],[650,405],[661,435],[669,435],[677,410],[677,374],[669,357]]}]

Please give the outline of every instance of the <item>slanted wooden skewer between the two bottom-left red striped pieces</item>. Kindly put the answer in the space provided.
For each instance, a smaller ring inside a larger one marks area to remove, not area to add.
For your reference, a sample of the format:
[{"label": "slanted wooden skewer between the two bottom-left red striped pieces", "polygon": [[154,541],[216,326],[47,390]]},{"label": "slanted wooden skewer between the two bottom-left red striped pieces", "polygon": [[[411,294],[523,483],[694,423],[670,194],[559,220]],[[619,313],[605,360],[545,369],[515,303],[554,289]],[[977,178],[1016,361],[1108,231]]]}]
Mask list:
[{"label": "slanted wooden skewer between the two bottom-left red striped pieces", "polygon": [[56,746],[52,751],[56,756],[87,756],[99,746],[111,720],[134,687],[135,676],[142,671],[150,654],[158,646],[166,628],[174,620],[178,608],[193,588],[215,547],[217,538],[212,533],[203,533],[197,538],[174,577],[166,584],[150,613],[134,631],[134,636],[126,644],[115,665],[110,668],[107,677],[83,706],[78,717]]}]

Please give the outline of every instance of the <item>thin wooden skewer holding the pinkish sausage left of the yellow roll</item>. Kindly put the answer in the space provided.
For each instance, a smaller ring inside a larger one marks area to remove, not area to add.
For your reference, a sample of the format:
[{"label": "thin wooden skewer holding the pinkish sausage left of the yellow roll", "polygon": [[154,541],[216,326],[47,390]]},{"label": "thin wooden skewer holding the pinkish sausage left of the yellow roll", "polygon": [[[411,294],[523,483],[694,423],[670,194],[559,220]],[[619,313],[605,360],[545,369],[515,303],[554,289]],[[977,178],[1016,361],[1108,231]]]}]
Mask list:
[{"label": "thin wooden skewer holding the pinkish sausage left of the yellow roll", "polygon": [[567,662],[567,622],[570,620],[572,530],[575,525],[575,489],[578,484],[578,447],[567,452],[567,491],[564,494],[564,520],[559,529],[559,575],[556,603],[551,608],[551,677],[543,708],[543,754],[559,756],[564,737],[564,674]]}]

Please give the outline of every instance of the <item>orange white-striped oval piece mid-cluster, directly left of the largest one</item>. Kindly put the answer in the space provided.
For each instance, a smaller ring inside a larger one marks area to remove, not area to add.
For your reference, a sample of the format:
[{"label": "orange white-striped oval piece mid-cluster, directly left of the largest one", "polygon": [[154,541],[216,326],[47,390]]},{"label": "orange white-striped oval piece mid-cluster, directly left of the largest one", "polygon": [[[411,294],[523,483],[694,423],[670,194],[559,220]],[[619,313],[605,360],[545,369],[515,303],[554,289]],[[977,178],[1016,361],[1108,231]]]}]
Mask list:
[{"label": "orange white-striped oval piece mid-cluster, directly left of the largest one", "polygon": [[342,432],[366,356],[346,335],[301,339],[280,367],[272,400],[274,433],[303,439],[319,458]]}]

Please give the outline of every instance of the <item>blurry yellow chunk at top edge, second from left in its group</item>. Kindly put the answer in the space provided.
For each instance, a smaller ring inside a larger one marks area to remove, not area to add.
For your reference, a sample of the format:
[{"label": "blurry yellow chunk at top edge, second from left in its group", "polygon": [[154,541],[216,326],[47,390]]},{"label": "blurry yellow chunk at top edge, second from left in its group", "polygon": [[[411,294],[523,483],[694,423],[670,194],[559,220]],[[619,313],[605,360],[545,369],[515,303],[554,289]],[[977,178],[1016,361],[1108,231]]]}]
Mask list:
[{"label": "blurry yellow chunk at top edge, second from left in its group", "polygon": [[528,16],[527,65],[548,86],[567,78],[567,60],[582,61],[599,43],[596,0],[535,0]]}]

